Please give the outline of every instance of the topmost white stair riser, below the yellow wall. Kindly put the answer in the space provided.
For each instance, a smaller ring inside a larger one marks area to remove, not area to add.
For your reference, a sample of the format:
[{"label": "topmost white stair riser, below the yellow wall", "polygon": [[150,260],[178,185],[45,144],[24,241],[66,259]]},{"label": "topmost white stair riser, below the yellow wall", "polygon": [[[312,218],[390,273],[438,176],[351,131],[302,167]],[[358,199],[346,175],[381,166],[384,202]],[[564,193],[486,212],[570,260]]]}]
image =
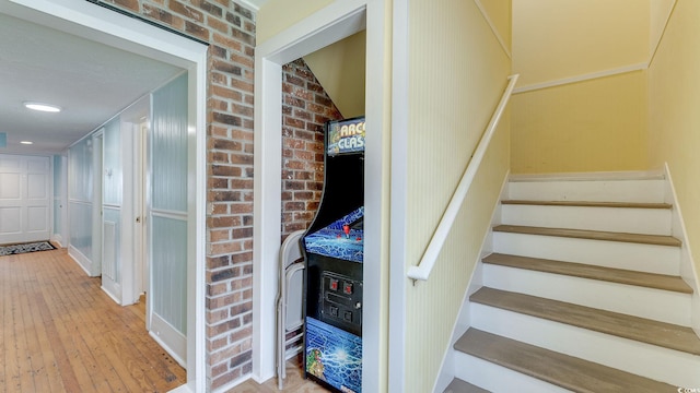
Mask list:
[{"label": "topmost white stair riser, below the yellow wall", "polygon": [[511,200],[664,202],[664,180],[511,181]]}]

